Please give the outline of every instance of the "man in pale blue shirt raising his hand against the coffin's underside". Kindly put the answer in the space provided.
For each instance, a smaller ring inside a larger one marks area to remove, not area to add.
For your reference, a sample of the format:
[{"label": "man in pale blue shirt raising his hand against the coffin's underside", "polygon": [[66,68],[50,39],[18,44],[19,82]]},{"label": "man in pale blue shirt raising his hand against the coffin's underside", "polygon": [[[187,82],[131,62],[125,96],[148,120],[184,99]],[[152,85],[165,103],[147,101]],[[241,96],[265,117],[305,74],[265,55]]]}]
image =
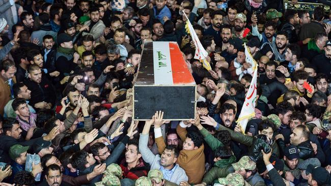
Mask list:
[{"label": "man in pale blue shirt raising his hand against the coffin's underside", "polygon": [[[164,179],[176,184],[179,184],[181,181],[187,181],[188,177],[184,169],[176,164],[179,156],[179,151],[176,145],[167,145],[161,156],[158,154],[155,156],[148,148],[149,131],[154,122],[159,122],[159,120],[155,121],[155,117],[153,116],[151,120],[146,121],[143,132],[140,134],[139,150],[142,154],[143,160],[151,165],[151,170],[160,170],[164,175]],[[155,138],[162,136],[161,130],[159,130],[159,132],[160,133],[158,134],[155,133]],[[172,174],[168,174],[168,172],[171,172]]]}]

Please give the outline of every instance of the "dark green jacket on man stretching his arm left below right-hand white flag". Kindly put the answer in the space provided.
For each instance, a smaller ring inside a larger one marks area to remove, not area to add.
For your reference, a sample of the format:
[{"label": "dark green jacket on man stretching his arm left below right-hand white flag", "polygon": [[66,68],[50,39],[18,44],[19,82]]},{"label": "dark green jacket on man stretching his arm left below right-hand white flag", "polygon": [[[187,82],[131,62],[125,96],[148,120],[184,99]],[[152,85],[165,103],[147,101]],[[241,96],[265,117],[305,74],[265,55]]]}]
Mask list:
[{"label": "dark green jacket on man stretching his arm left below right-hand white flag", "polygon": [[[231,139],[238,143],[246,145],[249,148],[251,148],[251,146],[253,145],[253,139],[254,139],[253,136],[244,135],[240,132],[235,132],[222,125],[219,125],[218,131],[222,131],[222,130],[229,131],[230,135],[231,135]],[[273,143],[271,144],[271,148],[272,148],[272,153],[275,154],[275,156],[279,157],[280,156],[279,148],[278,148],[278,144],[276,143],[275,140],[273,140]]]}]

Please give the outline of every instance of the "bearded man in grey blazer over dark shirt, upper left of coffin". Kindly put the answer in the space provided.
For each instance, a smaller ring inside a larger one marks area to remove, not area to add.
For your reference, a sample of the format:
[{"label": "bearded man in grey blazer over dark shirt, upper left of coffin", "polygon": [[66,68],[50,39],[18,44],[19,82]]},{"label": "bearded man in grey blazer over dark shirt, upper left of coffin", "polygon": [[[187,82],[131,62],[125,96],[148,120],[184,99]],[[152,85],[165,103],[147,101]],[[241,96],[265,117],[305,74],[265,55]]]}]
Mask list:
[{"label": "bearded man in grey blazer over dark shirt, upper left of coffin", "polygon": [[94,41],[99,42],[99,38],[103,35],[103,30],[106,26],[103,24],[103,21],[99,19],[100,14],[97,7],[92,7],[90,9],[90,18],[91,20],[84,23],[84,25],[89,26],[89,32],[83,32],[81,35],[92,35]]}]

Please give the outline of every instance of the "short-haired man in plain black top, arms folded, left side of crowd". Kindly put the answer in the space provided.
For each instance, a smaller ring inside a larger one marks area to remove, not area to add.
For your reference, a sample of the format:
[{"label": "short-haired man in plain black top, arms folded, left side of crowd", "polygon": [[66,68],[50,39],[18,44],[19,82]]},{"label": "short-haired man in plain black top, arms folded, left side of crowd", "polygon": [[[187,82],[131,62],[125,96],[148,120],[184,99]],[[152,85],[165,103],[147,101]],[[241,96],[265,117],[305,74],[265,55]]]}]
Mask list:
[{"label": "short-haired man in plain black top, arms folded, left side of crowd", "polygon": [[27,69],[29,79],[24,84],[31,90],[30,104],[35,109],[50,109],[55,103],[55,90],[48,78],[41,73],[37,65],[31,65]]}]

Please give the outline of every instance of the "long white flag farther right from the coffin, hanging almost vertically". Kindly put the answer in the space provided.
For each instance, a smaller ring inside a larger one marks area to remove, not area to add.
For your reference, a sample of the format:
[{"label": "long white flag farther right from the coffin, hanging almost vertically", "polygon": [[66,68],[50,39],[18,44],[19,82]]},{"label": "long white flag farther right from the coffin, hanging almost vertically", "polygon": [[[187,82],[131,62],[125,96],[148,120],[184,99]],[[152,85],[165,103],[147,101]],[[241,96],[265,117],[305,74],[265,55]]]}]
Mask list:
[{"label": "long white flag farther right from the coffin, hanging almost vertically", "polygon": [[253,59],[251,52],[247,48],[246,44],[244,43],[245,47],[245,54],[246,54],[246,62],[252,64],[252,71],[253,71],[253,78],[251,81],[251,85],[249,90],[247,91],[245,102],[241,108],[240,115],[237,119],[237,123],[241,126],[243,132],[246,130],[247,122],[252,117],[255,117],[255,106],[256,106],[256,98],[257,98],[257,88],[256,88],[256,79],[257,79],[257,63]]}]

